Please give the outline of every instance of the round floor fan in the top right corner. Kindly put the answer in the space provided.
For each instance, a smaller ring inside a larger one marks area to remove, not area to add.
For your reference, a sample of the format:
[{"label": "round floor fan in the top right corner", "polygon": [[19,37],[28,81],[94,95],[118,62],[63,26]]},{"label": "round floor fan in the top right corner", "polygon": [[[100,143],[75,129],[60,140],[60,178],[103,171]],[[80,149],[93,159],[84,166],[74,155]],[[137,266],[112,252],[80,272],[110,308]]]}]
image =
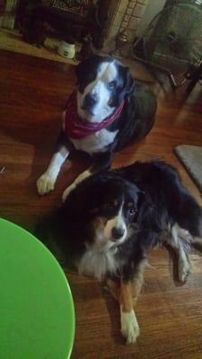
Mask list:
[{"label": "round floor fan in the top right corner", "polygon": [[[202,61],[202,0],[167,1],[137,39],[133,57],[169,74],[174,87],[184,83]],[[184,80],[177,83],[174,74]]]}]

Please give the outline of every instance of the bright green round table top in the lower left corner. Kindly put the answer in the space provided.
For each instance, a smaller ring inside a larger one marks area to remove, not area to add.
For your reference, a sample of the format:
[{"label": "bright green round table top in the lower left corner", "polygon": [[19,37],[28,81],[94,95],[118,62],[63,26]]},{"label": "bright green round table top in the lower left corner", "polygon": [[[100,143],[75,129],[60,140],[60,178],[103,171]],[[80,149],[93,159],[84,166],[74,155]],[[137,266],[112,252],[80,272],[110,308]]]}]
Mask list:
[{"label": "bright green round table top in the lower left corner", "polygon": [[0,359],[67,359],[75,337],[72,294],[56,258],[0,218]]}]

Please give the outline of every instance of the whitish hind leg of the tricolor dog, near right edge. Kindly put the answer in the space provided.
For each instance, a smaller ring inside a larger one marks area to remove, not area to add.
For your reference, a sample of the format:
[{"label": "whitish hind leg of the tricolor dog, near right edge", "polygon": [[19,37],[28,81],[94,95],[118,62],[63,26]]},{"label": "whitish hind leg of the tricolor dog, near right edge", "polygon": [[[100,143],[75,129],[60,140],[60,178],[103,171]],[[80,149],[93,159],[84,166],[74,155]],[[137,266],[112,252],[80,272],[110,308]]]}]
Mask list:
[{"label": "whitish hind leg of the tricolor dog, near right edge", "polygon": [[178,224],[174,224],[171,228],[171,239],[168,243],[178,256],[178,273],[181,282],[185,282],[191,272],[191,265],[188,253],[186,252],[186,245],[191,241],[188,231],[184,231]]}]

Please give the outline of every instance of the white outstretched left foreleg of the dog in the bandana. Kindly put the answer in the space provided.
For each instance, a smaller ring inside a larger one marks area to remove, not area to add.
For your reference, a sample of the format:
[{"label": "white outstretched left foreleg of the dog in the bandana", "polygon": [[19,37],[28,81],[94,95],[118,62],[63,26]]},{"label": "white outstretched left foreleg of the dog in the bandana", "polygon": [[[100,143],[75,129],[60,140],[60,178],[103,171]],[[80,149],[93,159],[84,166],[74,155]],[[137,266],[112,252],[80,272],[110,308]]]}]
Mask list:
[{"label": "white outstretched left foreleg of the dog in the bandana", "polygon": [[69,151],[66,149],[66,146],[61,146],[57,153],[54,153],[47,171],[37,180],[37,188],[40,195],[45,195],[54,189],[58,173],[62,164],[66,161],[68,154]]}]

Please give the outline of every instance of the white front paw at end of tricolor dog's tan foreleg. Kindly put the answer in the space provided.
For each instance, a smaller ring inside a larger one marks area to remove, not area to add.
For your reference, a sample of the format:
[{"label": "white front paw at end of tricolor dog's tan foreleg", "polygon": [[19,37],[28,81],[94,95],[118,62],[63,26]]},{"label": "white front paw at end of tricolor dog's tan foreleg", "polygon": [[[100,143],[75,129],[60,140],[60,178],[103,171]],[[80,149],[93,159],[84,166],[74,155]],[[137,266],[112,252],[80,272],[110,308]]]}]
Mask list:
[{"label": "white front paw at end of tricolor dog's tan foreleg", "polygon": [[122,312],[120,314],[121,333],[123,337],[127,338],[127,344],[135,343],[139,336],[139,326],[136,320],[135,311],[128,313]]}]

